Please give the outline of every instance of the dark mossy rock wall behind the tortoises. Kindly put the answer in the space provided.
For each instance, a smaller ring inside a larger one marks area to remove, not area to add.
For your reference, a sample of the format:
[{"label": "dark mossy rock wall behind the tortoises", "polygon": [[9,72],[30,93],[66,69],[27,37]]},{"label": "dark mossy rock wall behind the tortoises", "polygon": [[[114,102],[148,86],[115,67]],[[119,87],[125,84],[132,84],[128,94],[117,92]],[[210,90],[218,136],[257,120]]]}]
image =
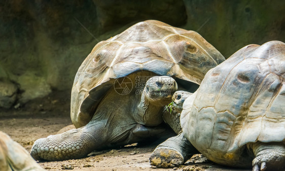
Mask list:
[{"label": "dark mossy rock wall behind the tortoises", "polygon": [[148,19],[195,30],[226,58],[248,44],[285,42],[285,1],[0,1],[0,107],[70,89],[98,41]]}]

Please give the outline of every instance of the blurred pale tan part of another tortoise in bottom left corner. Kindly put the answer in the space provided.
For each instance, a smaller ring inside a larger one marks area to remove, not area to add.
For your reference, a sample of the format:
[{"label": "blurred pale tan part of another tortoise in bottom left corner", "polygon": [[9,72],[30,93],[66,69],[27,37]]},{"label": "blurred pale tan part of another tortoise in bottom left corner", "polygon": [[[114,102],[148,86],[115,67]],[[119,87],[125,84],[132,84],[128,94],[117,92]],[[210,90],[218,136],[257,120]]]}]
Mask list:
[{"label": "blurred pale tan part of another tortoise in bottom left corner", "polygon": [[29,153],[6,133],[0,131],[0,170],[44,170]]}]

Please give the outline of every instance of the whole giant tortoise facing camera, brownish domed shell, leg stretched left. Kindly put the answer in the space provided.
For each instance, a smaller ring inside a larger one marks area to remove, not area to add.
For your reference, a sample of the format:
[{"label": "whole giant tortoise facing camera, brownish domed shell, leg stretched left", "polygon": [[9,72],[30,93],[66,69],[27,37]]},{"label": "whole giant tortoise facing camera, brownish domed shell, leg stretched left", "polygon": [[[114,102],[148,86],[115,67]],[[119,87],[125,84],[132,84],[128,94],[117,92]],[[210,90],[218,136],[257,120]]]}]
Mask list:
[{"label": "whole giant tortoise facing camera, brownish domed shell, leg stretched left", "polygon": [[224,60],[195,31],[139,22],[93,48],[72,88],[70,115],[77,129],[35,141],[31,155],[36,160],[81,158],[160,137],[167,130],[162,110],[177,85],[195,83],[196,90],[207,71]]}]

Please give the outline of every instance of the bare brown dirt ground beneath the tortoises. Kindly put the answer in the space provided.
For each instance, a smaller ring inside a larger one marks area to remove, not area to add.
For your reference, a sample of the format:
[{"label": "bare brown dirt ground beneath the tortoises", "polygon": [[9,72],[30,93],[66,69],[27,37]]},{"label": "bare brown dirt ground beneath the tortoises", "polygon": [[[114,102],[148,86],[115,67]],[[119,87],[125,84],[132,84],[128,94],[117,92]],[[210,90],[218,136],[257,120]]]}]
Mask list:
[{"label": "bare brown dirt ground beneath the tortoises", "polygon": [[[68,92],[57,91],[49,97],[35,99],[17,109],[0,111],[0,130],[20,143],[27,151],[39,138],[56,134],[61,128],[72,124],[69,118],[70,98]],[[18,105],[17,105],[18,106]],[[149,157],[157,144],[128,145],[118,149],[93,152],[89,157],[56,162],[39,162],[47,170],[242,170],[215,164],[201,155],[195,155],[185,165],[175,168],[156,168]]]}]

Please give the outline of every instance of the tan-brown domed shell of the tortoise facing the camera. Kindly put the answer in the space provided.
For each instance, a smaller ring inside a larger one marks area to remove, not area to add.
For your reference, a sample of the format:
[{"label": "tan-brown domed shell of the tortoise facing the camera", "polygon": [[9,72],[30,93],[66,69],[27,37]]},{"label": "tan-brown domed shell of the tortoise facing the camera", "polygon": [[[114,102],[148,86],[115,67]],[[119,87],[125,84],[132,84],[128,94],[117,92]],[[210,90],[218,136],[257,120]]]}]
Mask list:
[{"label": "tan-brown domed shell of the tortoise facing the camera", "polygon": [[71,118],[87,124],[115,79],[150,71],[200,84],[223,55],[197,32],[160,21],[139,22],[119,35],[99,42],[83,61],[72,88]]}]

